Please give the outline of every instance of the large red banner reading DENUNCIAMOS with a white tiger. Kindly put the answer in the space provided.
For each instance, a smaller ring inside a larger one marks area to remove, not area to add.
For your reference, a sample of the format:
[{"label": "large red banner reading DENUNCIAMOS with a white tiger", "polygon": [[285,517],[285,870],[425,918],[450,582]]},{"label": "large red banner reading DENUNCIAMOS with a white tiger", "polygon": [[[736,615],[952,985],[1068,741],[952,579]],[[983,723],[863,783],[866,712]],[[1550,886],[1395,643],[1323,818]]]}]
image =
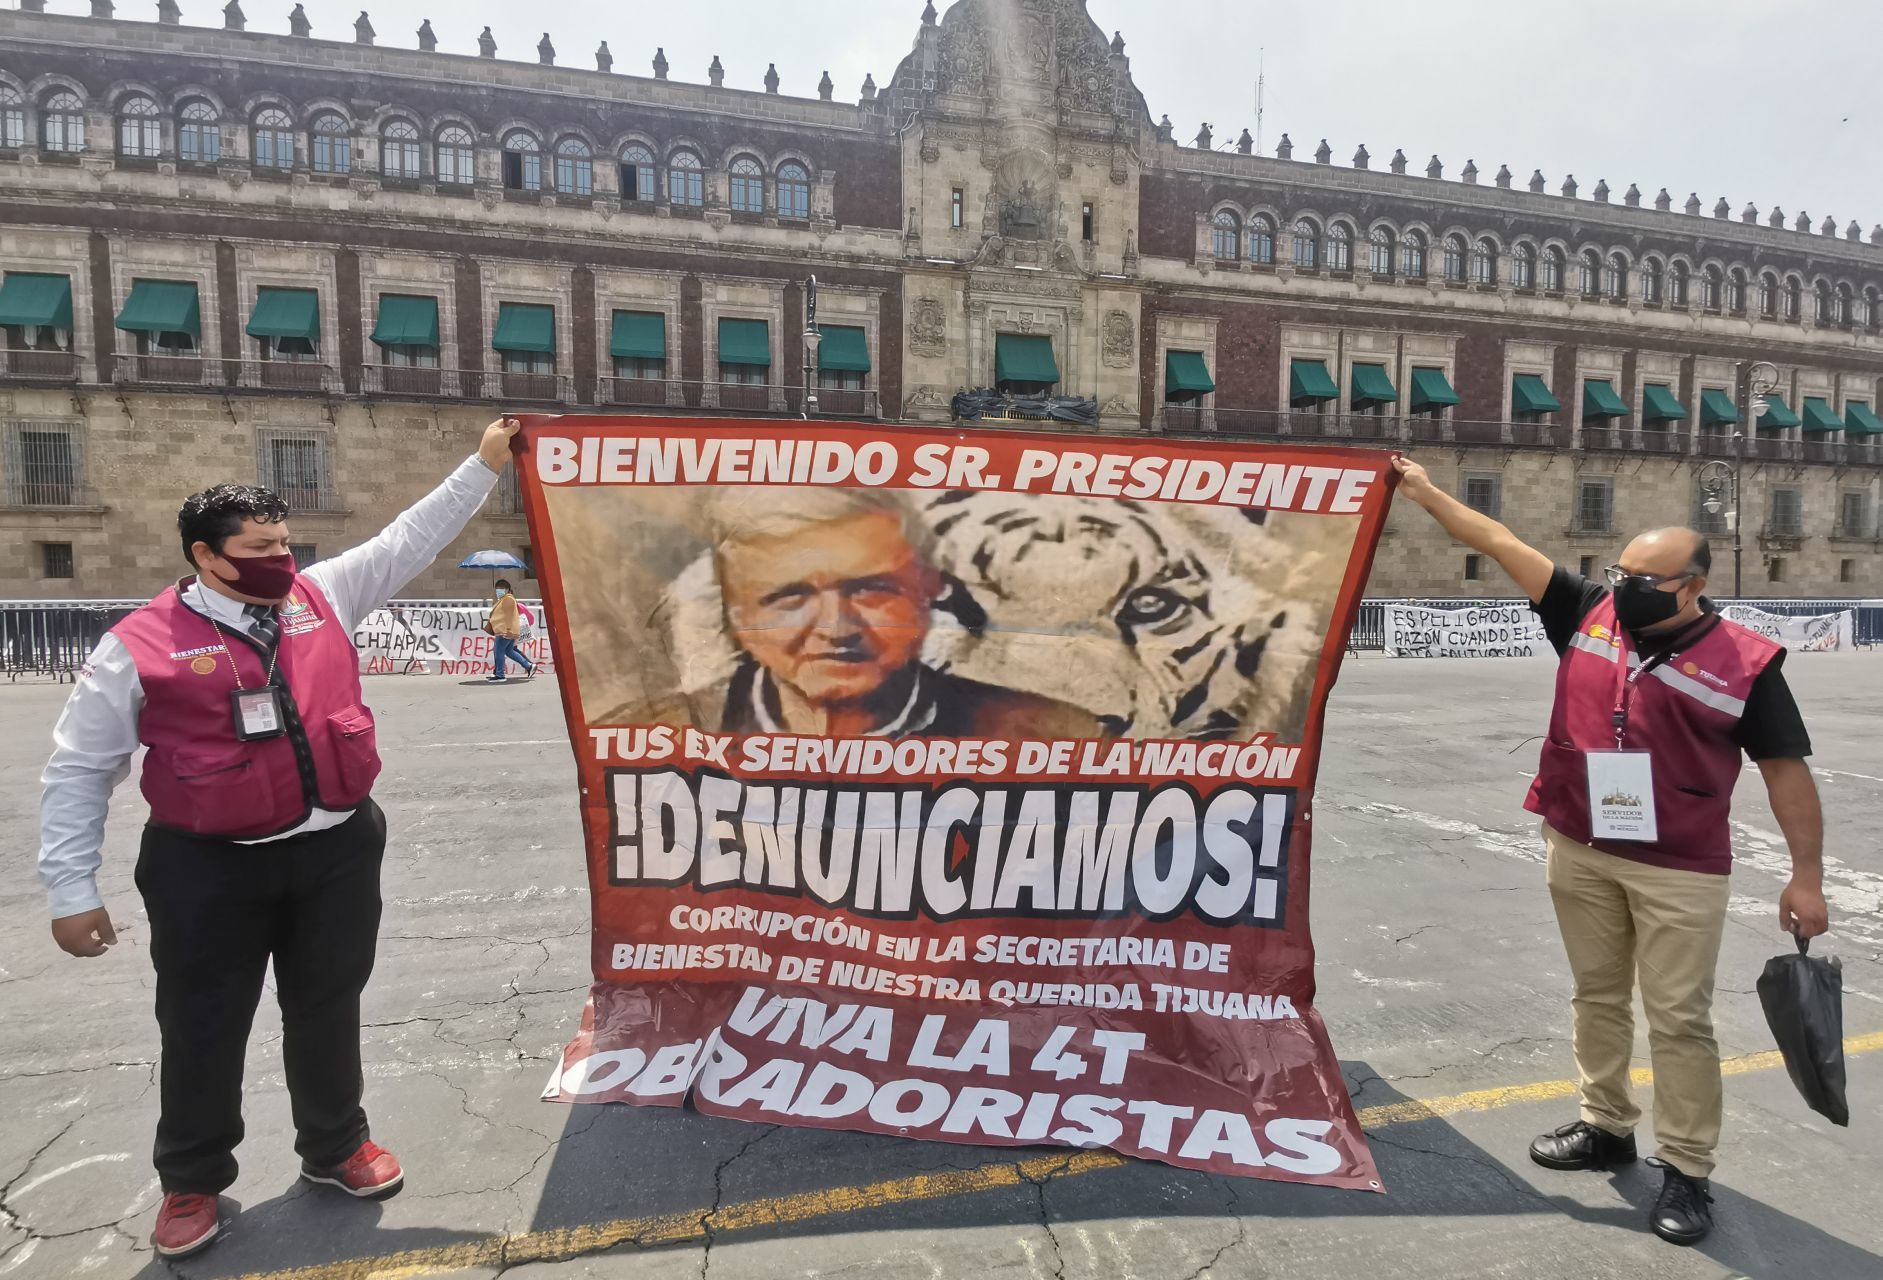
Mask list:
[{"label": "large red banner reading DENUNCIAMOS with a white tiger", "polygon": [[546,1097],[1378,1190],[1309,809],[1365,450],[525,418],[595,984]]}]

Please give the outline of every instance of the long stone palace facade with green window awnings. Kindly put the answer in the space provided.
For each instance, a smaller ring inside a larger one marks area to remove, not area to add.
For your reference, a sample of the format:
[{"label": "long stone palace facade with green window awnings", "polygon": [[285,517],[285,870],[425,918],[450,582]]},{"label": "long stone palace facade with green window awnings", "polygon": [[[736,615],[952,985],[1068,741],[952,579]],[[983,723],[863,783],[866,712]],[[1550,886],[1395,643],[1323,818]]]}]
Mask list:
[{"label": "long stone palace facade with green window awnings", "polygon": [[[806,369],[885,429],[1004,384],[1120,433],[1399,446],[1589,570],[1640,527],[1727,535],[1698,471],[1738,461],[1746,595],[1883,595],[1883,230],[1179,141],[1081,0],[911,11],[842,100],[149,8],[0,15],[0,597],[156,591],[215,480],[326,555],[499,407],[797,414]],[[514,489],[482,546],[527,559]],[[446,565],[414,595],[482,587]],[[1373,595],[1499,593],[1393,516]]]}]

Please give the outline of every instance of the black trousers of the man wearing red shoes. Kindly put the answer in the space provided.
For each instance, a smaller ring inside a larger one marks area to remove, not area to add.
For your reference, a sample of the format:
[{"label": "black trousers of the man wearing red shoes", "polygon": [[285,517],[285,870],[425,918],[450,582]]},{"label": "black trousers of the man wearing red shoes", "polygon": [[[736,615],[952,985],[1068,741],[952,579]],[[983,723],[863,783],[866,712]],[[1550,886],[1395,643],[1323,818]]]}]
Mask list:
[{"label": "black trousers of the man wearing red shoes", "polygon": [[249,1028],[275,962],[294,1150],[337,1165],[367,1137],[360,992],[378,941],[386,815],[367,800],[339,826],[260,845],[147,826],[137,892],[151,917],[166,1192],[235,1180]]}]

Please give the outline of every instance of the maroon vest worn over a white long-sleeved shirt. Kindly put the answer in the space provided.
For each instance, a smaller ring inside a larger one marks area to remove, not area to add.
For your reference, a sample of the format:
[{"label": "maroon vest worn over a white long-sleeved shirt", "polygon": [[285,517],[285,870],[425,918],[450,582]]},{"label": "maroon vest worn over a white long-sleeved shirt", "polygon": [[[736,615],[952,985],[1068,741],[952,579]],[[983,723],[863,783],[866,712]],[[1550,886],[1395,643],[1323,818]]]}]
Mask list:
[{"label": "maroon vest worn over a white long-sleeved shirt", "polygon": [[[360,693],[360,653],[328,597],[298,576],[277,614],[277,683],[288,732],[243,742],[230,691],[267,683],[267,663],[239,629],[217,627],[177,587],[111,629],[137,664],[143,796],[158,826],[252,840],[307,819],[311,806],[350,809],[373,791],[378,745]],[[224,651],[226,636],[226,651]]]}]

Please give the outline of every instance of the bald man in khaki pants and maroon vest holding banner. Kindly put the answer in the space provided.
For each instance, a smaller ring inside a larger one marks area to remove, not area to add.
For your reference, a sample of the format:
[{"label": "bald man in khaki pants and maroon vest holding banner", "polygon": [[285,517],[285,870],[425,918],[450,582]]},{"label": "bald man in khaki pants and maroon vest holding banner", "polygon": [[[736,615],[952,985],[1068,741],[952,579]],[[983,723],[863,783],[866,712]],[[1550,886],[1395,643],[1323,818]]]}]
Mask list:
[{"label": "bald man in khaki pants and maroon vest holding banner", "polygon": [[1785,649],[1702,599],[1712,552],[1693,529],[1640,535],[1601,585],[1439,489],[1418,463],[1397,457],[1393,467],[1399,493],[1510,574],[1561,655],[1523,808],[1542,817],[1550,898],[1576,981],[1582,1118],[1531,1143],[1531,1160],[1550,1169],[1634,1160],[1638,973],[1663,1169],[1648,1224],[1665,1240],[1695,1244],[1714,1225],[1708,1176],[1723,1109],[1714,968],[1742,751],[1759,764],[1791,849],[1779,928],[1800,937],[1830,928],[1823,815],[1804,762],[1811,742],[1779,672]]}]

